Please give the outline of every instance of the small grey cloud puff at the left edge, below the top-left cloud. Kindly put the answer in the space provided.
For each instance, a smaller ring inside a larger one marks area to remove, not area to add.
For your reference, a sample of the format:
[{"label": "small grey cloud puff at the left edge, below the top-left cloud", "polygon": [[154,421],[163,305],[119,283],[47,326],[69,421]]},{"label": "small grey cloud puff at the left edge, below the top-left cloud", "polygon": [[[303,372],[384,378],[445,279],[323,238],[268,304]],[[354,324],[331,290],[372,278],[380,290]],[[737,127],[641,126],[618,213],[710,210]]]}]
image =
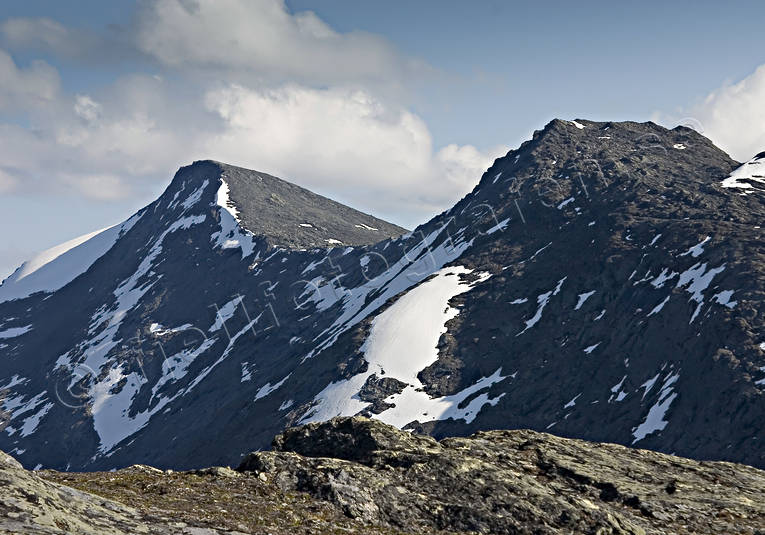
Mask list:
[{"label": "small grey cloud puff at the left edge, below the top-left cloud", "polygon": [[19,68],[0,50],[0,110],[23,110],[49,104],[59,91],[56,69],[44,61]]}]

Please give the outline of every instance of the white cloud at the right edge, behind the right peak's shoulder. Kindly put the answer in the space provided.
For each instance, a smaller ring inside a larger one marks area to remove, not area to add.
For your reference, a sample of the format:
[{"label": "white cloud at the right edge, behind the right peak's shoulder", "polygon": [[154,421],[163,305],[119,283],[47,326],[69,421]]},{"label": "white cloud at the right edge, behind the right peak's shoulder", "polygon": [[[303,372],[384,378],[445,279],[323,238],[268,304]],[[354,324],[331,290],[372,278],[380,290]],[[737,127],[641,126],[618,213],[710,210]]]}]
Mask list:
[{"label": "white cloud at the right edge, behind the right peak's shoulder", "polygon": [[[738,83],[723,85],[683,113],[686,121],[734,159],[751,159],[765,150],[765,65]],[[677,122],[662,115],[656,118]]]}]

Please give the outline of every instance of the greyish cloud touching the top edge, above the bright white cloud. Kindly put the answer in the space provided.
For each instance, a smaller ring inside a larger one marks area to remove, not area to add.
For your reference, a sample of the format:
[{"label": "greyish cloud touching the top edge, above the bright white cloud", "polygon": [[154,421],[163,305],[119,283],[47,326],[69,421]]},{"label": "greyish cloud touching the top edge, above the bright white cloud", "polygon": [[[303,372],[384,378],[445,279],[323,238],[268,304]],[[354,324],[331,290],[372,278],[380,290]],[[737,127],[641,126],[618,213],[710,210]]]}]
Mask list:
[{"label": "greyish cloud touching the top edge, above the bright white cloud", "polygon": [[312,12],[293,15],[283,0],[154,0],[139,13],[135,39],[165,65],[302,83],[400,81],[415,63],[375,35],[338,33]]}]

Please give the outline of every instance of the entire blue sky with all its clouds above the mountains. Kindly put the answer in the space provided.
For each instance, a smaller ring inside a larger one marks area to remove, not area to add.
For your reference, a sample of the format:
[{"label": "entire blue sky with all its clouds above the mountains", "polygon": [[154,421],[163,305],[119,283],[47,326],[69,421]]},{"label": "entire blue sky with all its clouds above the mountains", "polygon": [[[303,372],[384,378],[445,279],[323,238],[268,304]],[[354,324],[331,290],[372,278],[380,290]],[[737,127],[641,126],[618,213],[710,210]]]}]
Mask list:
[{"label": "entire blue sky with all its clouds above the mountains", "polygon": [[178,167],[267,172],[407,227],[552,118],[765,150],[765,3],[4,0],[0,279]]}]

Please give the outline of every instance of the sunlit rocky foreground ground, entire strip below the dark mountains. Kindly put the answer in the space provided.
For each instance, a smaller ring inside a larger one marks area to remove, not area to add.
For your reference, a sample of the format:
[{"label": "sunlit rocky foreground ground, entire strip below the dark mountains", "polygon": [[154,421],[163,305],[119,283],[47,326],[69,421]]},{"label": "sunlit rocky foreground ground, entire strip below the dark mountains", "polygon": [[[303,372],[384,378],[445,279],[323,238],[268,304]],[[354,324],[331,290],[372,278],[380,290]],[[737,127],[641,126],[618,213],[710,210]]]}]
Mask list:
[{"label": "sunlit rocky foreground ground, entire strip below the dark mountains", "polygon": [[273,446],[236,471],[30,473],[6,456],[0,533],[765,533],[765,472],[742,465],[528,430],[438,442],[366,418]]}]

